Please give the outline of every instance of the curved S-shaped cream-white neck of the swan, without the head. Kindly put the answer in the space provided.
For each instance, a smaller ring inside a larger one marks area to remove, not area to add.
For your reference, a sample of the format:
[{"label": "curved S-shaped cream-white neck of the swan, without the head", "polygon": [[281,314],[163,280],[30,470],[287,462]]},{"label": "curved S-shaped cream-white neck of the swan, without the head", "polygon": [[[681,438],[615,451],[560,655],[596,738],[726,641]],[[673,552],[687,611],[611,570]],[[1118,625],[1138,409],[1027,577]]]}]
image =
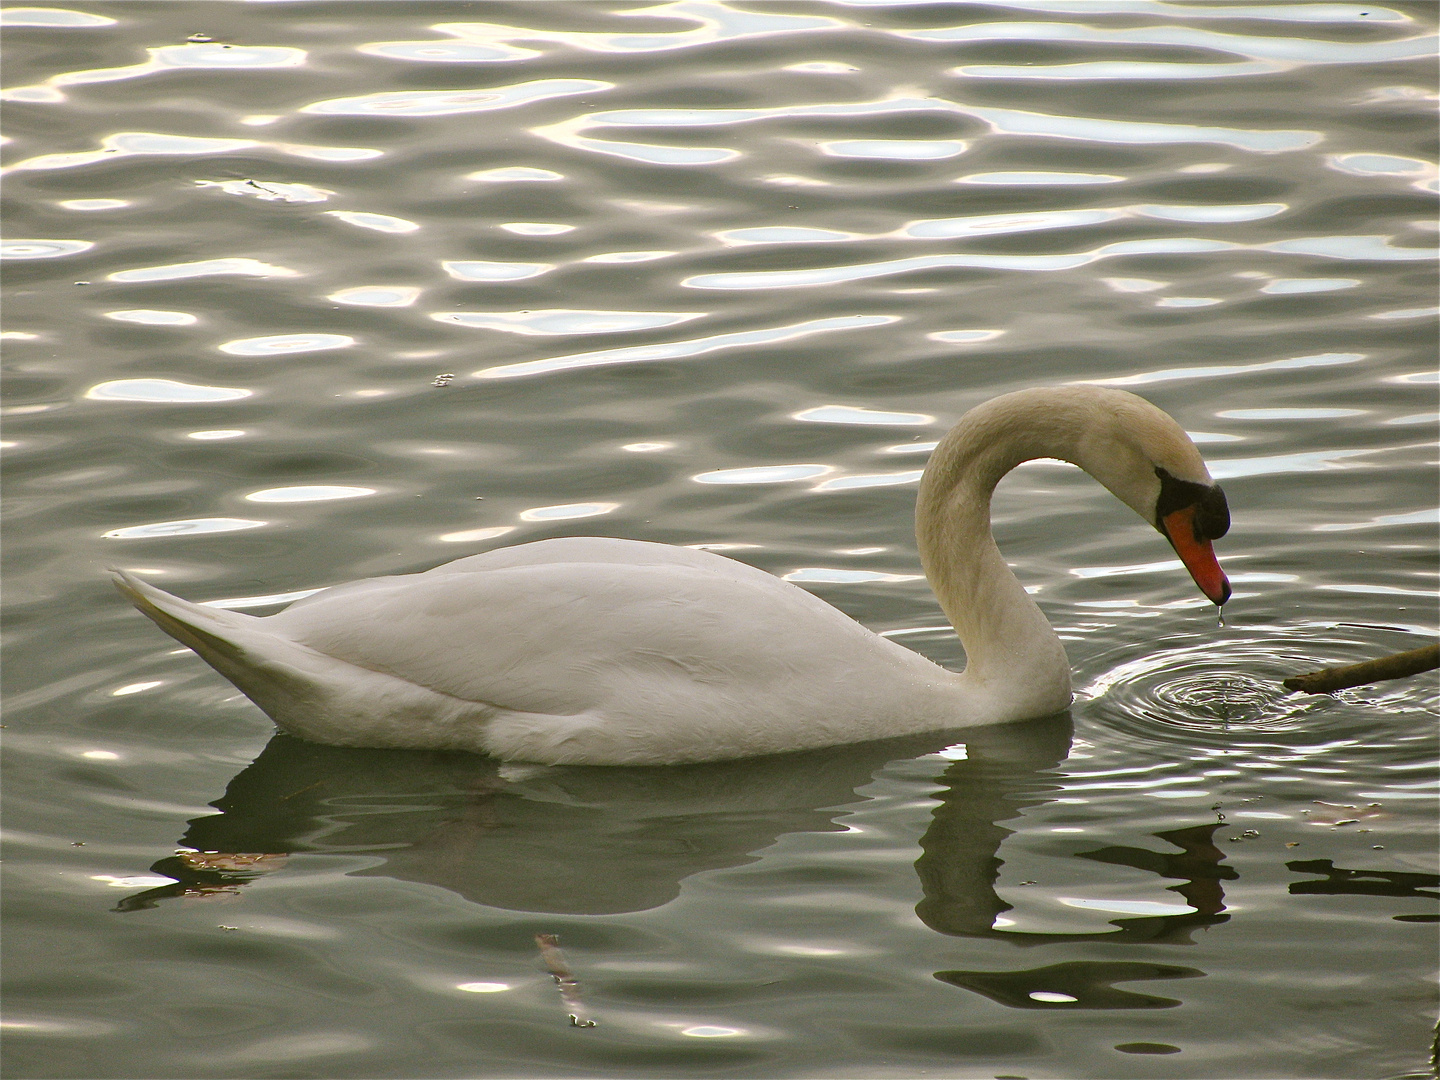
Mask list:
[{"label": "curved S-shaped cream-white neck of the swan, without the head", "polygon": [[1028,392],[966,413],[930,455],[916,501],[920,562],[965,647],[966,681],[1037,710],[1027,716],[1068,704],[1070,661],[995,546],[991,495],[1024,461],[1076,456],[1083,418],[1057,405]]}]

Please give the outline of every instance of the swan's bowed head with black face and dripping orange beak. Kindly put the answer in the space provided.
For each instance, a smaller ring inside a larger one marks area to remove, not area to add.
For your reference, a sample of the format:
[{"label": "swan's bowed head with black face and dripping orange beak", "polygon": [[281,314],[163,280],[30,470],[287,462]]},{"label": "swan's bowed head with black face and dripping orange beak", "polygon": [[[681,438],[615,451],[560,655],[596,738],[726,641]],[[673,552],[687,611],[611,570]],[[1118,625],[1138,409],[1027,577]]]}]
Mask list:
[{"label": "swan's bowed head with black face and dripping orange beak", "polygon": [[[1073,387],[1080,390],[1081,387]],[[1169,540],[1211,603],[1230,580],[1211,547],[1230,530],[1225,492],[1175,419],[1123,390],[1084,387],[1094,410],[1073,461]]]}]

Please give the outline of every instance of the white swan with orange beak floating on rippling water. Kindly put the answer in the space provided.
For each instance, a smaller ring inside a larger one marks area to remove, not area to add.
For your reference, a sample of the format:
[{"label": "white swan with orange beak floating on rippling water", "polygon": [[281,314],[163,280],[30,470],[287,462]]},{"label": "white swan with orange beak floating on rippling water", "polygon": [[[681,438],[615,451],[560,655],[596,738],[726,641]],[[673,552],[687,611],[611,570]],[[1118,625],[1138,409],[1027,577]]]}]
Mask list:
[{"label": "white swan with orange beak floating on rippling water", "polygon": [[552,765],[668,765],[1047,716],[1070,665],[989,531],[999,478],[1074,462],[1155,524],[1201,590],[1225,497],[1179,425],[1133,395],[1032,389],[972,409],[920,481],[926,576],[962,674],[763,570],[636,540],[540,540],[325,589],[256,618],[117,570],[161,629],[284,730]]}]

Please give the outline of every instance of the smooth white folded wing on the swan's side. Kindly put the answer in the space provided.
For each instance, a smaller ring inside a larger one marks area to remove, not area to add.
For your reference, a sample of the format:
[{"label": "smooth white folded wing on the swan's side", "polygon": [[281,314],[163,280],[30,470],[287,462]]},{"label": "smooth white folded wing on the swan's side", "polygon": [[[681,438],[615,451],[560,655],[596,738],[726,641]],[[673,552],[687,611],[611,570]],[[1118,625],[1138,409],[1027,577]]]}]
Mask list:
[{"label": "smooth white folded wing on the swan's side", "polygon": [[526,713],[636,711],[703,688],[757,698],[788,680],[844,678],[873,654],[914,655],[753,567],[480,566],[360,582],[265,622],[357,667]]}]

